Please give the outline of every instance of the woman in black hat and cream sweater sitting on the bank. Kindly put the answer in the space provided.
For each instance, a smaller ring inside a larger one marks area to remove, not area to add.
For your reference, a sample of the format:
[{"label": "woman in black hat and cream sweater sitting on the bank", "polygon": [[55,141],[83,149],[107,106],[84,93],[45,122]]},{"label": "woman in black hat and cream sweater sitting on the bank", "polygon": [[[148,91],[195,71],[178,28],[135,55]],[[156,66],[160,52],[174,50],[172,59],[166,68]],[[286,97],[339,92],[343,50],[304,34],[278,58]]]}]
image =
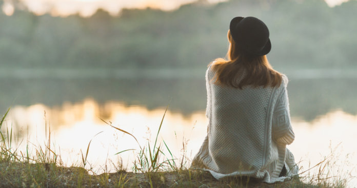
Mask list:
[{"label": "woman in black hat and cream sweater sitting on the bank", "polygon": [[289,179],[299,169],[286,149],[294,140],[288,79],[266,58],[269,30],[255,17],[235,17],[228,40],[228,60],[216,59],[206,72],[208,134],[192,168],[205,169],[216,179]]}]

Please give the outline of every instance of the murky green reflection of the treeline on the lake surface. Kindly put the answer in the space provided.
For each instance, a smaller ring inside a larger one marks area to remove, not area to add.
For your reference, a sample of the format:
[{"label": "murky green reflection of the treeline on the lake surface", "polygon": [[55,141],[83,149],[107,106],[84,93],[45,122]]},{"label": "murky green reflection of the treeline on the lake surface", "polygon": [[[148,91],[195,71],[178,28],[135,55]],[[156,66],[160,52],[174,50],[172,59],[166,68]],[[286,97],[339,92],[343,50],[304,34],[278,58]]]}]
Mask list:
[{"label": "murky green reflection of the treeline on the lake surface", "polygon": [[[62,109],[65,101],[76,103],[90,97],[100,103],[101,108],[111,100],[125,101],[128,106],[140,105],[149,110],[166,106],[172,99],[170,110],[189,116],[206,108],[205,70],[196,72],[195,75],[201,75],[201,78],[4,78],[0,82],[0,112],[10,106],[31,106],[35,103],[42,103],[51,109]],[[338,109],[357,114],[355,78],[301,79],[296,77],[297,74],[290,74],[288,92],[293,116],[311,121]],[[99,113],[102,112],[103,109],[100,109]]]}]

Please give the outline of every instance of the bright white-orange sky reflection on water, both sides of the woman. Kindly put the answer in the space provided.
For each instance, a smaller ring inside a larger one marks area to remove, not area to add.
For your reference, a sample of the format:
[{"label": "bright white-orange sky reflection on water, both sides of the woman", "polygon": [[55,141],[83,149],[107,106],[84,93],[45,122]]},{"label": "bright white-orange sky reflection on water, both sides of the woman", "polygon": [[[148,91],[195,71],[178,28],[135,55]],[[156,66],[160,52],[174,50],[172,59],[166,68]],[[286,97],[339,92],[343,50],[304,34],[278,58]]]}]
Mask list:
[{"label": "bright white-orange sky reflection on water, both sides of the woman", "polygon": [[[20,149],[26,148],[27,140],[31,149],[45,143],[47,123],[51,128],[51,147],[61,155],[66,165],[81,164],[80,150],[85,153],[92,139],[88,161],[94,172],[101,173],[106,164],[109,171],[115,171],[112,162],[116,165],[120,161],[119,158],[122,158],[124,165],[131,170],[133,151],[114,154],[127,149],[138,149],[138,146],[131,136],[111,128],[100,118],[133,134],[144,146],[147,139],[154,141],[164,112],[165,109],[127,107],[120,102],[107,102],[100,106],[87,99],[82,103],[65,103],[62,107],[54,108],[43,105],[17,106],[10,111],[6,125],[10,127],[13,124],[15,131],[20,134],[17,139],[24,139]],[[191,159],[206,136],[206,123],[204,112],[184,117],[180,113],[168,111],[159,138],[166,141],[177,158],[183,154],[184,140],[187,143],[186,155]],[[296,162],[301,161],[301,172],[309,169],[309,163],[312,167],[322,161],[332,150],[335,155],[331,160],[335,163],[328,167],[330,175],[343,178],[357,175],[357,116],[335,111],[311,122],[293,118],[293,129],[296,138],[288,148],[294,154]],[[100,134],[93,138],[97,133]],[[356,179],[350,178],[349,184],[356,184]]]}]

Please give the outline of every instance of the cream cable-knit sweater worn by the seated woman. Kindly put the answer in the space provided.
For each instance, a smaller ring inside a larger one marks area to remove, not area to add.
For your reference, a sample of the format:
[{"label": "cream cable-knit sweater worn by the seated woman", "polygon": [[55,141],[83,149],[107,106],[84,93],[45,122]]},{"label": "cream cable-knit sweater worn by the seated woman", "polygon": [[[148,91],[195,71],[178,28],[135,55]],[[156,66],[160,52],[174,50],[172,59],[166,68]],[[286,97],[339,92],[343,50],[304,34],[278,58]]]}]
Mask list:
[{"label": "cream cable-knit sweater worn by the seated woman", "polygon": [[[208,133],[191,167],[207,170],[216,179],[250,176],[267,183],[296,175],[299,168],[286,148],[294,140],[287,77],[283,75],[280,87],[246,86],[241,90],[215,85],[210,81],[214,74],[208,67]],[[279,177],[284,164],[287,174]]]}]

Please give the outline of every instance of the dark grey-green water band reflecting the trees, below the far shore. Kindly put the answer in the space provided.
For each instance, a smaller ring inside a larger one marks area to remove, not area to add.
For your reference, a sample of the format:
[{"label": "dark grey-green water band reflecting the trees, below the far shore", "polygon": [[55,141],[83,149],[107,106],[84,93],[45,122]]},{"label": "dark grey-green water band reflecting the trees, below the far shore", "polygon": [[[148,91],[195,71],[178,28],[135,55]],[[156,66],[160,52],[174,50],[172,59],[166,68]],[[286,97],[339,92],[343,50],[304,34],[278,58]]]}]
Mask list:
[{"label": "dark grey-green water band reflecting the trees, below the far shore", "polygon": [[[183,72],[177,75],[177,72]],[[310,121],[328,112],[357,114],[357,70],[283,71],[289,77],[290,110]],[[313,74],[315,73],[315,74]],[[134,76],[135,75],[135,76]],[[103,105],[121,101],[148,109],[166,107],[190,115],[206,108],[205,70],[0,70],[0,112],[10,106],[93,98]],[[169,102],[171,101],[171,102]]]}]

